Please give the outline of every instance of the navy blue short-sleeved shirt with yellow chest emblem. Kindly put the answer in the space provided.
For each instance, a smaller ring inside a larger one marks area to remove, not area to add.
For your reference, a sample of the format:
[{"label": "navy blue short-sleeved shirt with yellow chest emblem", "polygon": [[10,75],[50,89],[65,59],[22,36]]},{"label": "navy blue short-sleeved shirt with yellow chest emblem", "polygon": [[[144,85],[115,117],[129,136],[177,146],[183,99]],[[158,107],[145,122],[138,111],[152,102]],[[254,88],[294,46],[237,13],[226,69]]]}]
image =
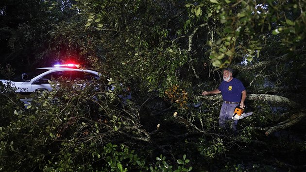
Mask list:
[{"label": "navy blue short-sleeved shirt with yellow chest emblem", "polygon": [[245,90],[243,84],[237,78],[233,78],[228,83],[222,81],[218,89],[221,91],[223,100],[229,102],[240,102],[242,96],[241,92]]}]

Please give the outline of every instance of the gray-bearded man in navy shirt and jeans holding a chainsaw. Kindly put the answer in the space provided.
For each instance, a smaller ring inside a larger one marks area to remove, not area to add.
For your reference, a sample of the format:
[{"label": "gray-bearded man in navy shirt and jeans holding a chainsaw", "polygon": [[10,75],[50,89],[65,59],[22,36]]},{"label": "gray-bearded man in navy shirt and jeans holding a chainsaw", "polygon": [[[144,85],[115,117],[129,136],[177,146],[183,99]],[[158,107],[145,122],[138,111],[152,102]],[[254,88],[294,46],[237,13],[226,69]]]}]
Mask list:
[{"label": "gray-bearded man in navy shirt and jeans holding a chainsaw", "polygon": [[[221,106],[219,125],[224,128],[227,120],[232,119],[233,112],[238,106],[244,108],[244,101],[246,98],[246,90],[237,78],[233,78],[233,69],[225,68],[223,69],[223,80],[221,85],[212,91],[204,91],[202,95],[208,94],[222,94],[223,103]],[[232,121],[232,127],[234,132],[236,132],[238,120]]]}]

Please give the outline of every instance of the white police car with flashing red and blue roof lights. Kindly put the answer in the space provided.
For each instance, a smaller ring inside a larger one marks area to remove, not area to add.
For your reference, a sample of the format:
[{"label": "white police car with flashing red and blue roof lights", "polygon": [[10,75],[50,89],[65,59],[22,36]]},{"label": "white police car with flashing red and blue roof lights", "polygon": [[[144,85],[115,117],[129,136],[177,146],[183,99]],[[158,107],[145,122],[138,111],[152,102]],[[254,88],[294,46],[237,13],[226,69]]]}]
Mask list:
[{"label": "white police car with flashing red and blue roof lights", "polygon": [[49,68],[38,68],[29,73],[23,73],[19,78],[0,80],[4,85],[10,84],[16,87],[16,92],[21,97],[28,97],[32,92],[40,90],[51,90],[48,80],[63,78],[65,80],[87,80],[92,81],[99,79],[98,72],[88,69],[78,69],[79,65],[62,64],[53,65]]}]

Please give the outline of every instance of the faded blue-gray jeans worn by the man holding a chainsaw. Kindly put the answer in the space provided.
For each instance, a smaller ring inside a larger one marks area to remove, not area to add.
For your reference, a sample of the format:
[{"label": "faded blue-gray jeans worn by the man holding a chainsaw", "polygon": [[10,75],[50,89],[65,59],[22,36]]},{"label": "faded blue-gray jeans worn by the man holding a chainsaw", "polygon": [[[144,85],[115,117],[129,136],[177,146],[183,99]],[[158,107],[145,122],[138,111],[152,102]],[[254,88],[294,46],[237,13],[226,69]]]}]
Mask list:
[{"label": "faded blue-gray jeans worn by the man holding a chainsaw", "polygon": [[232,129],[234,132],[236,131],[238,120],[232,120],[232,116],[236,106],[238,105],[239,103],[234,103],[234,104],[225,103],[225,102],[222,103],[220,116],[219,116],[219,125],[221,128],[228,128],[227,121],[231,120]]}]

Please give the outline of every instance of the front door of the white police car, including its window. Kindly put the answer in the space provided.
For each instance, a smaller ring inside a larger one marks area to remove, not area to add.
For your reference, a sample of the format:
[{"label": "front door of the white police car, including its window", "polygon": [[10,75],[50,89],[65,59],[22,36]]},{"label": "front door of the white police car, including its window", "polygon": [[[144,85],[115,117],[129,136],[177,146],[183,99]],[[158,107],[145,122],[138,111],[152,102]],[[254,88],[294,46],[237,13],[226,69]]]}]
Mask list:
[{"label": "front door of the white police car, including its window", "polygon": [[42,90],[51,91],[52,87],[49,84],[49,80],[53,81],[53,80],[58,80],[60,78],[63,78],[65,80],[71,80],[71,71],[64,70],[64,71],[54,71],[48,73],[32,83],[31,91],[32,92],[42,91]]}]

